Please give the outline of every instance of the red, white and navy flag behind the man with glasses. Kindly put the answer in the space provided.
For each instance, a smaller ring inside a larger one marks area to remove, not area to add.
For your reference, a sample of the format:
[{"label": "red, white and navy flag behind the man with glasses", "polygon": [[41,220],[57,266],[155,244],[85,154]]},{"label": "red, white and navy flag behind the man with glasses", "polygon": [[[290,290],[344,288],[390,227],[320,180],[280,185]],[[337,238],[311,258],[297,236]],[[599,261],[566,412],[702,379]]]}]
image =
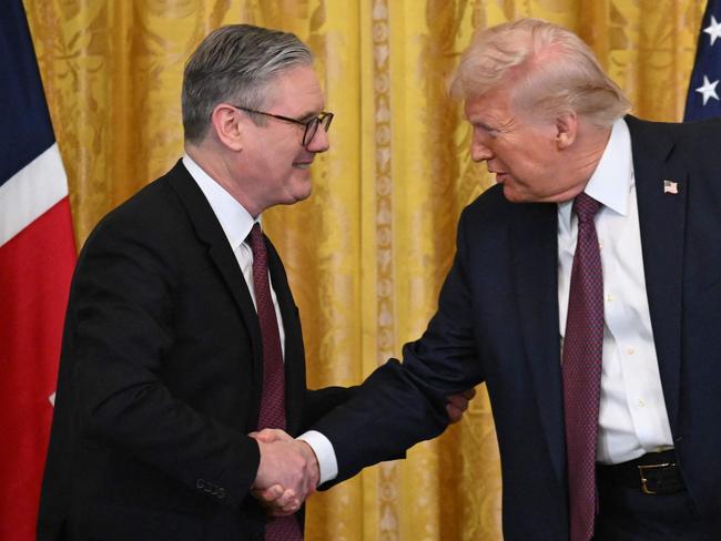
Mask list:
[{"label": "red, white and navy flag behind the man with glasses", "polygon": [[75,245],[21,0],[0,17],[0,539],[35,539]]}]

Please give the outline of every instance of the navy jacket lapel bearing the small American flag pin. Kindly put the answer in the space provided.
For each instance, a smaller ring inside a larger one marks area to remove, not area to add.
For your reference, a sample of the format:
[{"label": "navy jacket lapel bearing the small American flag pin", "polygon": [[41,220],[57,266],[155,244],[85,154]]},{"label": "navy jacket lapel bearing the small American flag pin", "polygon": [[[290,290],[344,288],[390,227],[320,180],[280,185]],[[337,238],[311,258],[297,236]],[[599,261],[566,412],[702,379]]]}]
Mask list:
[{"label": "navy jacket lapel bearing the small American flag pin", "polygon": [[[659,139],[658,133],[651,133],[658,132],[649,130],[651,124],[631,116],[626,120],[631,131],[643,270],[653,341],[671,432],[677,435],[688,171],[683,161],[673,155],[673,141]],[[664,193],[663,181],[677,183],[678,193]]]}]

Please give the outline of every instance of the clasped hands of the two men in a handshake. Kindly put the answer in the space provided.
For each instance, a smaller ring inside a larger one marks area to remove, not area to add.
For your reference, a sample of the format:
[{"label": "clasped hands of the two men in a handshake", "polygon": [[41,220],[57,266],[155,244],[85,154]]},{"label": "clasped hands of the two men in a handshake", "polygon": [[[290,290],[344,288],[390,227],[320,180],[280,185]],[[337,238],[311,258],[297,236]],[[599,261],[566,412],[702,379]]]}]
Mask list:
[{"label": "clasped hands of the two men in a handshake", "polygon": [[275,517],[293,514],[318,486],[318,461],[311,446],[280,429],[250,433],[261,449],[253,497]]}]

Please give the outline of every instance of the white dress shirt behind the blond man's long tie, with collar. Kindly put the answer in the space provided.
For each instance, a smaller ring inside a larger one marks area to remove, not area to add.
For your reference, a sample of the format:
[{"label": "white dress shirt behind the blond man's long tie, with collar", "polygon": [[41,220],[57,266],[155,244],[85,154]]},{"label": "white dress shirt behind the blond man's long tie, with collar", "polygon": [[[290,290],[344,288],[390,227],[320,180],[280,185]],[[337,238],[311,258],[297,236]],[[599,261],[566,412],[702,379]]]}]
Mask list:
[{"label": "white dress shirt behind the blond man's long tie, with collar", "polygon": [[[615,122],[585,192],[603,205],[596,216],[605,299],[597,460],[619,463],[672,447],[646,293],[631,136],[623,120]],[[571,205],[558,205],[561,345],[578,232]]]}]

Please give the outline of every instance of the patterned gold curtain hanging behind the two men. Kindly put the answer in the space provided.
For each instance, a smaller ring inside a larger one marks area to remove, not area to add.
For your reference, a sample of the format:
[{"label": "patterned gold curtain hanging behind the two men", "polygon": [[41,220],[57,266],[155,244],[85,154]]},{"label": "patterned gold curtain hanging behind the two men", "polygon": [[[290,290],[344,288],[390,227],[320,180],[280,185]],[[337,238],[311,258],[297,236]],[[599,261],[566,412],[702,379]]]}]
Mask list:
[{"label": "patterned gold curtain hanging behind the two men", "polygon": [[[317,57],[332,150],[314,195],[266,215],[301,307],[309,385],[353,385],[433,314],[460,210],[489,185],[445,78],[474,28],[570,27],[633,112],[682,115],[704,0],[24,0],[70,182],[78,244],[182,153],[183,62],[210,30],[295,32]],[[360,438],[372,435],[358,435]],[[465,420],[308,504],[308,540],[500,539],[483,391]]]}]

